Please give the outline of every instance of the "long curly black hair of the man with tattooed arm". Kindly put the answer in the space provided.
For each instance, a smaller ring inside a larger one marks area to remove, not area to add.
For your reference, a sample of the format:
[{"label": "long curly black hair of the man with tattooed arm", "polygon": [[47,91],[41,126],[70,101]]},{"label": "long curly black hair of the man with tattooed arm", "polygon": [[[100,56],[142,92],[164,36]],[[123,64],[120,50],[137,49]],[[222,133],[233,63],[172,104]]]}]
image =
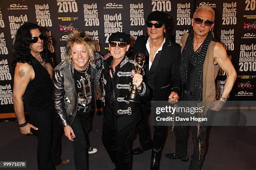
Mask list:
[{"label": "long curly black hair of the man with tattooed arm", "polygon": [[49,38],[46,35],[45,30],[34,23],[24,23],[17,30],[15,41],[13,44],[13,57],[15,58],[15,60],[13,61],[14,67],[16,66],[17,62],[27,62],[31,65],[33,59],[33,56],[30,54],[30,45],[32,44],[31,30],[37,28],[40,30],[41,34],[44,35],[44,50],[40,52],[41,57],[44,62],[51,63],[51,57],[49,56],[48,49]]}]

